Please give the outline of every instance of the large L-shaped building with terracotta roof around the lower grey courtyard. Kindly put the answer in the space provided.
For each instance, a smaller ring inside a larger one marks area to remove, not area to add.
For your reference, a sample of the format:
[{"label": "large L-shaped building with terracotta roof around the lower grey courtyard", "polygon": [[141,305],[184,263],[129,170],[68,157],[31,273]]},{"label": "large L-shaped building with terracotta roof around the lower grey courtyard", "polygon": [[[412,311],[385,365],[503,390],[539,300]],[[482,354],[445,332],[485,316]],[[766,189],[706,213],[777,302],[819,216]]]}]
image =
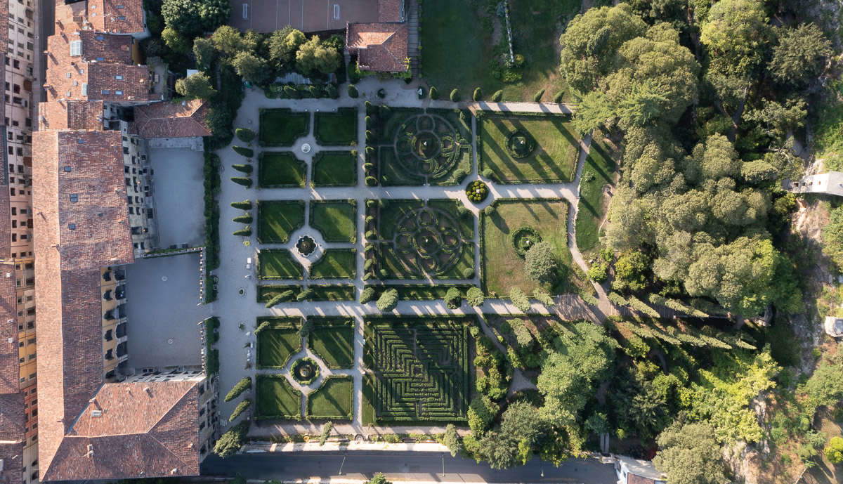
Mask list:
[{"label": "large L-shaped building with terracotta roof around the lower grey courtyard", "polygon": [[196,475],[216,436],[216,383],[201,368],[158,379],[127,364],[122,266],[143,250],[123,138],[35,133],[42,481]]}]

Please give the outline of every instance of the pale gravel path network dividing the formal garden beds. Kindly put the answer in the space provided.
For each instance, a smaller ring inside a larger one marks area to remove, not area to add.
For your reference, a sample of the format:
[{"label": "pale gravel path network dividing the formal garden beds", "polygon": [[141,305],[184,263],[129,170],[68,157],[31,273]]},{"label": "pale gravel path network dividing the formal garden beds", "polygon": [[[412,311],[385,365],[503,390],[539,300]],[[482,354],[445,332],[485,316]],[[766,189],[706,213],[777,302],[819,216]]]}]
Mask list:
[{"label": "pale gravel path network dividing the formal garden beds", "polygon": [[[386,87],[387,96],[384,99],[378,99],[375,94],[381,87]],[[363,153],[365,152],[365,110],[362,104],[369,99],[373,103],[386,103],[392,106],[404,107],[433,107],[433,108],[462,108],[469,109],[472,112],[478,110],[495,110],[503,112],[546,112],[552,114],[569,114],[571,107],[567,105],[556,105],[550,103],[487,103],[485,101],[474,103],[453,103],[447,100],[431,100],[418,99],[416,95],[416,83],[405,84],[403,81],[390,80],[379,81],[375,78],[365,78],[357,84],[360,90],[361,97],[359,99],[351,99],[347,97],[346,90],[341,89],[340,99],[267,99],[262,92],[250,90],[244,99],[243,106],[239,111],[239,116],[235,122],[235,126],[245,126],[257,131],[258,129],[258,110],[260,108],[268,107],[289,107],[293,110],[311,110],[311,111],[334,111],[338,107],[358,106],[358,132],[357,132],[357,186],[353,187],[324,187],[313,188],[309,185],[309,177],[311,176],[310,165],[314,158],[314,154],[322,150],[348,150],[349,147],[333,147],[321,148],[316,143],[313,134],[307,137],[300,138],[293,148],[272,148],[277,151],[294,151],[299,159],[308,165],[308,183],[304,188],[283,188],[283,189],[261,189],[250,188],[236,185],[228,182],[228,177],[231,175],[230,171],[226,169],[223,172],[223,188],[220,194],[220,247],[221,247],[221,266],[217,269],[216,274],[219,278],[219,299],[215,303],[214,314],[219,315],[221,320],[220,341],[226,341],[220,344],[220,389],[225,391],[230,388],[236,381],[244,376],[254,376],[255,374],[284,374],[287,379],[291,381],[294,387],[302,390],[303,393],[309,393],[311,388],[317,388],[325,376],[330,374],[350,374],[354,380],[354,395],[353,395],[353,420],[352,422],[335,422],[335,433],[345,435],[357,434],[373,434],[373,433],[441,433],[444,431],[443,427],[431,426],[378,426],[370,427],[362,425],[362,377],[364,371],[363,365],[363,318],[368,315],[381,315],[382,313],[375,307],[374,303],[359,304],[357,301],[336,301],[336,302],[307,302],[307,303],[282,303],[277,306],[266,309],[264,304],[256,302],[255,283],[257,282],[256,274],[253,270],[246,270],[245,261],[251,257],[253,261],[256,260],[258,242],[253,235],[247,241],[248,245],[244,244],[244,240],[238,237],[231,236],[231,232],[236,224],[231,221],[231,218],[239,215],[241,211],[230,207],[230,203],[234,201],[241,201],[244,199],[251,200],[303,200],[309,202],[312,200],[330,200],[330,199],[354,199],[357,201],[357,238],[352,244],[324,244],[325,248],[333,247],[354,247],[357,250],[357,278],[353,280],[325,280],[319,279],[320,284],[353,284],[357,291],[362,290],[363,282],[360,275],[363,274],[364,264],[364,230],[365,230],[365,200],[368,198],[379,199],[436,199],[449,198],[463,202],[465,207],[468,207],[471,212],[478,215],[483,207],[486,207],[492,201],[502,198],[540,198],[540,199],[565,199],[571,204],[572,209],[568,211],[567,232],[568,245],[571,249],[573,260],[580,266],[583,271],[588,271],[588,266],[583,261],[582,255],[577,250],[576,239],[574,237],[577,201],[579,197],[579,181],[583,172],[583,164],[588,155],[588,148],[591,142],[590,137],[585,137],[580,142],[580,157],[578,159],[577,171],[575,179],[570,183],[560,184],[524,184],[524,185],[502,185],[491,183],[490,180],[484,180],[490,187],[491,196],[486,202],[480,205],[475,205],[469,202],[465,196],[464,188],[471,181],[482,177],[478,175],[477,163],[477,143],[476,136],[472,137],[472,168],[471,175],[469,175],[464,182],[459,186],[365,186],[362,163]],[[313,133],[314,116],[311,116],[311,133]],[[476,135],[477,122],[476,117],[472,116],[471,130]],[[301,146],[303,143],[309,143],[311,151],[309,153],[302,153]],[[229,167],[234,163],[242,163],[243,158],[234,153],[231,148],[220,150],[219,155],[223,162],[223,167]],[[256,170],[255,170],[256,171]],[[307,204],[309,210],[309,203]],[[479,234],[478,217],[475,217],[475,237]],[[307,221],[308,218],[305,217]],[[256,231],[255,231],[256,232]],[[273,248],[287,247],[293,248],[298,236],[300,234],[314,234],[319,237],[317,231],[309,229],[305,226],[299,229],[291,237],[286,245],[267,245]],[[262,246],[262,245],[261,245]],[[293,250],[295,252],[295,250]],[[475,261],[478,262],[478,270],[475,271],[475,277],[470,280],[461,281],[446,281],[446,280],[432,280],[431,282],[463,282],[472,283],[477,286],[481,282],[481,261],[480,245],[475,244]],[[309,266],[309,261],[304,261]],[[254,266],[254,265],[253,265]],[[245,280],[244,280],[245,279]],[[309,282],[309,273],[305,272],[303,283]],[[425,281],[420,280],[400,280],[387,281],[390,283],[420,283]],[[283,283],[282,281],[273,281],[272,283]],[[237,289],[244,288],[244,296],[238,294]],[[556,304],[552,307],[545,307],[545,305],[534,301],[531,313],[558,315],[565,320],[592,320],[599,323],[604,320],[606,315],[616,314],[616,310],[612,304],[609,303],[603,288],[599,285],[595,286],[599,295],[599,305],[593,308],[585,304],[579,296],[575,294],[563,294],[556,298]],[[245,298],[245,299],[244,299]],[[506,299],[486,299],[486,303],[482,307],[474,308],[467,304],[463,304],[459,309],[448,309],[443,301],[400,301],[397,307],[392,311],[393,315],[483,315],[484,313],[495,313],[500,315],[519,315],[522,314],[511,302]],[[256,318],[266,315],[291,315],[291,316],[346,316],[352,317],[355,320],[356,331],[354,333],[354,368],[346,370],[330,370],[325,367],[324,363],[319,358],[304,347],[303,350],[289,358],[285,368],[278,369],[258,369],[246,368],[252,363],[251,350],[255,347],[256,341],[252,331],[255,326]],[[242,323],[244,330],[239,330],[238,325]],[[488,326],[483,324],[485,332],[491,332]],[[244,347],[247,347],[244,350]],[[244,353],[245,352],[245,353]],[[289,370],[293,362],[303,356],[309,356],[319,362],[320,377],[314,385],[309,387],[302,387],[295,383],[292,377],[289,376]],[[245,357],[245,358],[244,358]],[[247,361],[249,362],[247,364]],[[244,365],[240,366],[239,362]],[[517,379],[519,388],[529,388],[532,385],[528,379],[523,375],[519,375]],[[303,399],[302,405],[305,405]],[[226,416],[234,409],[237,401],[221,403],[221,415]],[[303,408],[303,411],[305,409]],[[303,413],[304,415],[304,413]],[[223,418],[223,421],[226,419]],[[280,433],[319,433],[321,429],[321,422],[311,423],[306,420],[300,422],[268,422],[255,421],[250,429],[250,436],[252,437],[266,437],[277,436]]]}]

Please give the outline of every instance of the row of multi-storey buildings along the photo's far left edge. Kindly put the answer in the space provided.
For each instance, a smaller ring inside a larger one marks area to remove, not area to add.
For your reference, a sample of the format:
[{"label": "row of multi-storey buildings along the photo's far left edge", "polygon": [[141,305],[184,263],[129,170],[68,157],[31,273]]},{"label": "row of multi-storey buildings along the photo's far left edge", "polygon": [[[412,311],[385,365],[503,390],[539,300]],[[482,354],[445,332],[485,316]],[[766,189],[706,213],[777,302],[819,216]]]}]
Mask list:
[{"label": "row of multi-storey buildings along the photo's far left edge", "polygon": [[31,132],[38,10],[0,2],[0,483],[38,480]]}]

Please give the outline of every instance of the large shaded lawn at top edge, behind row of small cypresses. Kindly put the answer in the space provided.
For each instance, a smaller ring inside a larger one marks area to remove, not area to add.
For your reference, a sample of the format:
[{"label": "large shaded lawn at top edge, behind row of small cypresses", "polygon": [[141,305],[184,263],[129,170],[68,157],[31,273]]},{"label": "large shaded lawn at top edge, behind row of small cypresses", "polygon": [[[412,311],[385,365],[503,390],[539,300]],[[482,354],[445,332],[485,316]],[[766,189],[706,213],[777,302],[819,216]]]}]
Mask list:
[{"label": "large shaded lawn at top edge, behind row of small cypresses", "polygon": [[[508,52],[505,40],[495,45],[493,24],[504,32],[503,19],[494,13],[478,12],[476,3],[453,0],[427,0],[421,8],[421,69],[424,78],[436,85],[443,97],[458,88],[463,99],[470,99],[480,86],[488,99],[498,89],[503,100],[531,101],[545,89],[545,101],[556,92],[566,92],[559,67],[559,35],[568,20],[579,13],[578,0],[518,0],[509,3],[513,30],[513,51],[524,56],[523,78],[504,83],[496,75],[495,59]],[[490,3],[494,8],[494,3]],[[472,28],[466,28],[471,25]]]}]

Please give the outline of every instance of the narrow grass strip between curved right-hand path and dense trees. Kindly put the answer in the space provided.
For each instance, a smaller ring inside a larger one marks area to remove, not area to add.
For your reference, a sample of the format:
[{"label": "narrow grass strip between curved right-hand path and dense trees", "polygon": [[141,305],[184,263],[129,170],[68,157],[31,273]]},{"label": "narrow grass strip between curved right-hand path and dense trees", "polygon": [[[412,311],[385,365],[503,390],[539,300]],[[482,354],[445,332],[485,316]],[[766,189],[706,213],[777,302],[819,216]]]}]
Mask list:
[{"label": "narrow grass strip between curved right-hand path and dense trees", "polygon": [[609,155],[609,147],[595,139],[583,167],[577,207],[577,248],[584,254],[598,245],[600,222],[609,207],[604,186],[614,187],[615,169],[617,165]]}]

